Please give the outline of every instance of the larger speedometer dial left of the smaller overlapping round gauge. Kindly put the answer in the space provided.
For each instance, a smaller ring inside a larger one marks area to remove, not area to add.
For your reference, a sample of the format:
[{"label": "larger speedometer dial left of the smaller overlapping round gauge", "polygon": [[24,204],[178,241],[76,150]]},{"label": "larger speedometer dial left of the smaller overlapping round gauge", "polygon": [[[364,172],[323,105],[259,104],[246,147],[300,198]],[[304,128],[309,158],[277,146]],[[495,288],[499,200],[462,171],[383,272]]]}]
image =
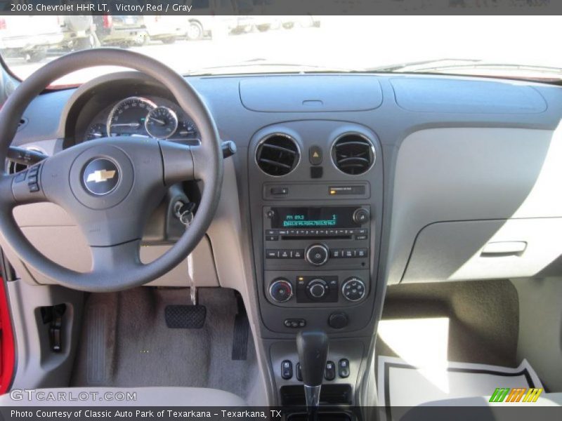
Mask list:
[{"label": "larger speedometer dial left of the smaller overlapping round gauge", "polygon": [[131,97],[120,101],[107,119],[107,133],[110,136],[146,136],[146,116],[155,108],[155,103],[146,98]]}]

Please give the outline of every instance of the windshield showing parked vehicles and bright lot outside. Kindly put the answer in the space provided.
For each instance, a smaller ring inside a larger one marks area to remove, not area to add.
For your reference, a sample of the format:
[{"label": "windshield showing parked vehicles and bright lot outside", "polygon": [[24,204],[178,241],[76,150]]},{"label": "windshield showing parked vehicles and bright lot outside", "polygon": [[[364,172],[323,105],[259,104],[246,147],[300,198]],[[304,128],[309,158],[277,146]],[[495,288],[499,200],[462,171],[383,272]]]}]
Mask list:
[{"label": "windshield showing parked vehicles and bright lot outside", "polygon": [[[230,1],[213,4],[220,13]],[[71,51],[112,46],[181,74],[424,72],[551,81],[562,77],[560,23],[558,16],[1,16],[0,51],[20,79]],[[55,84],[115,70],[86,69]]]}]

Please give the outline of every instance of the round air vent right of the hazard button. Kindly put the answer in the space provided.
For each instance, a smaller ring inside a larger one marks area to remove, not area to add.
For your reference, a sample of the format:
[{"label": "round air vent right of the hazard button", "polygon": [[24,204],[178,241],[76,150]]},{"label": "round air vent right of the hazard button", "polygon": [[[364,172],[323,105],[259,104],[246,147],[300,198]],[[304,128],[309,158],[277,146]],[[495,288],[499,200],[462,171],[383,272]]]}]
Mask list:
[{"label": "round air vent right of the hazard button", "polygon": [[332,146],[332,161],[342,173],[359,175],[374,163],[374,146],[358,133],[341,135]]}]

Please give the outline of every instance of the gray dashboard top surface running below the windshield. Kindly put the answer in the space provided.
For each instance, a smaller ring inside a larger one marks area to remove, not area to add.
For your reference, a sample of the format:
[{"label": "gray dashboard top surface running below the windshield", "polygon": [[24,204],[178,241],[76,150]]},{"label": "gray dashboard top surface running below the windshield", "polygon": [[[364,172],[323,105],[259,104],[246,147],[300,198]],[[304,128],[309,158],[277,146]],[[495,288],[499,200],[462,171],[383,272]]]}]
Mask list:
[{"label": "gray dashboard top surface running below the windshield", "polygon": [[[460,76],[363,76],[368,77],[272,74],[197,76],[188,80],[207,102],[221,133],[238,147],[246,147],[251,135],[263,126],[280,121],[353,121],[372,128],[383,145],[396,146],[407,134],[421,128],[553,129],[562,116],[562,89],[558,86]],[[330,83],[315,83],[317,78]],[[337,87],[338,83],[347,93]],[[306,84],[311,86],[307,91],[310,98],[303,94]],[[27,126],[18,132],[14,145],[64,138],[59,123],[65,118],[65,109],[72,105],[68,102],[75,91],[53,91],[34,100],[25,112]],[[339,101],[334,96],[338,93]],[[313,102],[303,105],[306,100]]]}]

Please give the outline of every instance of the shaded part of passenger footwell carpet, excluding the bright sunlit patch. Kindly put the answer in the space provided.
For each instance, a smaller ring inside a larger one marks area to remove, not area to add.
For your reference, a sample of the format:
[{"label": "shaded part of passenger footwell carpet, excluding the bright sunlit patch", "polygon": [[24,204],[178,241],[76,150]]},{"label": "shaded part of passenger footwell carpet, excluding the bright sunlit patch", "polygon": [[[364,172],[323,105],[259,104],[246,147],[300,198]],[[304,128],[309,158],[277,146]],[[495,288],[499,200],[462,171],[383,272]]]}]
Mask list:
[{"label": "shaded part of passenger footwell carpet, excluding the bright sunlit patch", "polygon": [[[382,319],[448,317],[448,361],[516,367],[518,314],[510,281],[415,283],[388,288]],[[380,339],[376,351],[396,356]]]}]

